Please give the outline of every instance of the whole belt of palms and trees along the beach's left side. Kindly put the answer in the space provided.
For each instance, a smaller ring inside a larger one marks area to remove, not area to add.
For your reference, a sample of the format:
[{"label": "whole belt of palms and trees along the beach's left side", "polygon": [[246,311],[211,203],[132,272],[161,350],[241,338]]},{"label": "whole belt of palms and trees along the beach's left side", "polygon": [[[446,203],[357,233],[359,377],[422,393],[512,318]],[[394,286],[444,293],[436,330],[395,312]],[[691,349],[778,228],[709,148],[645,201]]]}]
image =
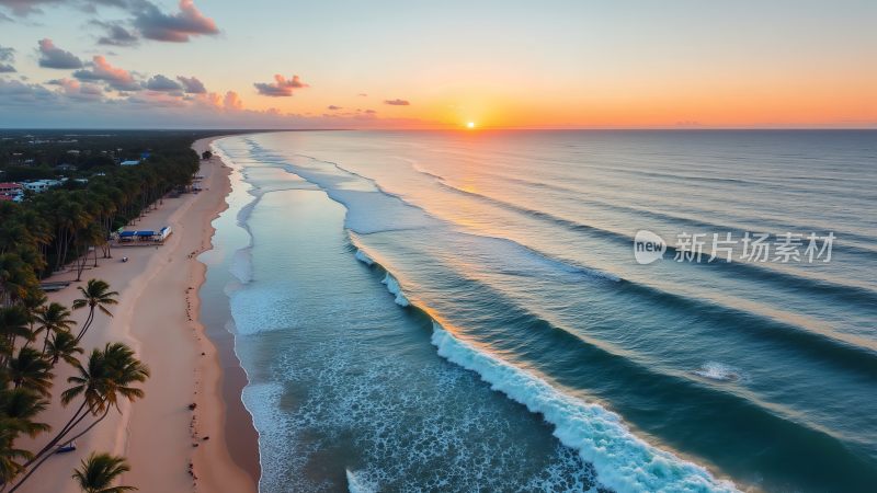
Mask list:
[{"label": "whole belt of palms and trees along the beach's left side", "polygon": [[[87,179],[26,194],[20,203],[0,202],[0,492],[19,490],[123,401],[144,397],[139,385],[149,368],[130,347],[107,343],[87,353],[81,346],[99,314],[112,317],[118,294],[90,279],[66,307],[47,300],[41,279],[68,272],[79,280],[99,256],[111,257],[116,229],[191,184],[200,157],[190,145],[179,136],[156,141],[137,165],[119,167],[111,158]],[[84,313],[81,323],[75,312]],[[44,416],[58,374],[71,375],[59,393],[69,414],[62,425],[49,426]],[[71,479],[87,492],[133,490],[113,485],[127,470],[124,458],[93,452]]]}]

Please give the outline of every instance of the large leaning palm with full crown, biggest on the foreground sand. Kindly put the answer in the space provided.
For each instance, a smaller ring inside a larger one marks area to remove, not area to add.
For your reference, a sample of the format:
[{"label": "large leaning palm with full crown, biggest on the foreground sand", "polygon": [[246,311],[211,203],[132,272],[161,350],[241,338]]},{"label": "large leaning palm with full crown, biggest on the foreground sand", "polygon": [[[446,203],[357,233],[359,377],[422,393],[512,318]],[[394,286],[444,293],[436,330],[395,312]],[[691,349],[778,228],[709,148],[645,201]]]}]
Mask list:
[{"label": "large leaning palm with full crown, biggest on the foreground sand", "polygon": [[[67,379],[73,386],[61,393],[61,404],[68,405],[79,397],[82,397],[82,402],[55,437],[23,465],[27,473],[10,493],[21,488],[52,457],[58,444],[69,444],[87,434],[106,417],[112,408],[119,410],[119,398],[129,401],[143,398],[143,389],[133,385],[144,382],[149,377],[149,368],[134,357],[130,347],[122,343],[107,343],[103,351],[94,348],[87,365],[77,364],[76,369],[77,375]],[[84,428],[79,428],[89,415],[95,416],[95,420]]]}]

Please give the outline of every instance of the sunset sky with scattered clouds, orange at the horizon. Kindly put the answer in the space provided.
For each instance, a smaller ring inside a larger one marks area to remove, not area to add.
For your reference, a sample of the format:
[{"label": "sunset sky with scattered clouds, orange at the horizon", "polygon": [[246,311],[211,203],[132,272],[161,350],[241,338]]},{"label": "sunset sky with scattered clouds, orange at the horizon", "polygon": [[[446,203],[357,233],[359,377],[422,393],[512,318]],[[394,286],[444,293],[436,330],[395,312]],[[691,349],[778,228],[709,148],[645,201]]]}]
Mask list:
[{"label": "sunset sky with scattered clouds, orange at the horizon", "polygon": [[875,128],[877,2],[0,0],[0,127]]}]

